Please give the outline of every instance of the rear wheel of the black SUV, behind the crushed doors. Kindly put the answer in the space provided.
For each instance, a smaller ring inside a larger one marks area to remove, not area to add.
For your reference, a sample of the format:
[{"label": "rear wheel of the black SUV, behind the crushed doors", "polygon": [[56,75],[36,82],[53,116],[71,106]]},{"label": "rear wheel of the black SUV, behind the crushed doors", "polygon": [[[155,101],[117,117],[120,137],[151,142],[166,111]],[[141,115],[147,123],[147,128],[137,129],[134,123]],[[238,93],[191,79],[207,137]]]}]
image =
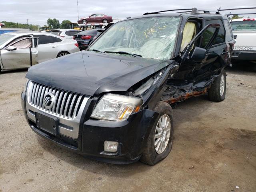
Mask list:
[{"label": "rear wheel of the black SUV, behind the crushed doors", "polygon": [[226,70],[222,70],[217,78],[212,82],[208,90],[208,98],[210,101],[223,101],[226,96]]}]

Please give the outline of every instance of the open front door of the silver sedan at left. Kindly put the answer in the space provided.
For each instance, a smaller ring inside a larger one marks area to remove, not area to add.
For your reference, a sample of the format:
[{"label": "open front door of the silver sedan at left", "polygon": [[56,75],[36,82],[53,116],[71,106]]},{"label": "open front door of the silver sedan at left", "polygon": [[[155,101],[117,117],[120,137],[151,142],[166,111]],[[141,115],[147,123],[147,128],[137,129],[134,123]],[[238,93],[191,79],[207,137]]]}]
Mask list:
[{"label": "open front door of the silver sedan at left", "polygon": [[[4,70],[29,68],[38,63],[37,38],[25,36],[15,39],[6,48],[1,50],[1,60]],[[13,46],[16,49],[8,50]]]}]

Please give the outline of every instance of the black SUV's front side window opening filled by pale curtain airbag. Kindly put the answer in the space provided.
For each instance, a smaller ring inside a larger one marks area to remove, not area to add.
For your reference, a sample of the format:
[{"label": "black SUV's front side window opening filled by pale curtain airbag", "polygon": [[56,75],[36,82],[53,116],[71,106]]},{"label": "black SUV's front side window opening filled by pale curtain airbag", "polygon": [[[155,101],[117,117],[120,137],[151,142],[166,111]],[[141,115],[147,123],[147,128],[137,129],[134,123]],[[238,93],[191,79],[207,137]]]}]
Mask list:
[{"label": "black SUV's front side window opening filled by pale curtain airbag", "polygon": [[183,30],[183,37],[182,37],[180,51],[184,50],[184,48],[194,38],[195,35],[196,35],[196,23],[186,22],[186,25]]}]

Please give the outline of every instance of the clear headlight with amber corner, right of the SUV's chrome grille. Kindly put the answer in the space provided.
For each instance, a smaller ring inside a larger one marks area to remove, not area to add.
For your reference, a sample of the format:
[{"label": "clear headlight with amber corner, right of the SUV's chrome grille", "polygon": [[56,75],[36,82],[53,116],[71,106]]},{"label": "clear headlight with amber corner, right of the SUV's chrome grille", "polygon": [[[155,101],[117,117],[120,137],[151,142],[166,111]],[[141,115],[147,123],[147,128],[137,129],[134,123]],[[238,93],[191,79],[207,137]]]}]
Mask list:
[{"label": "clear headlight with amber corner, right of the SUV's chrome grille", "polygon": [[123,121],[130,114],[138,112],[142,103],[141,98],[106,94],[96,105],[91,117],[101,120]]}]

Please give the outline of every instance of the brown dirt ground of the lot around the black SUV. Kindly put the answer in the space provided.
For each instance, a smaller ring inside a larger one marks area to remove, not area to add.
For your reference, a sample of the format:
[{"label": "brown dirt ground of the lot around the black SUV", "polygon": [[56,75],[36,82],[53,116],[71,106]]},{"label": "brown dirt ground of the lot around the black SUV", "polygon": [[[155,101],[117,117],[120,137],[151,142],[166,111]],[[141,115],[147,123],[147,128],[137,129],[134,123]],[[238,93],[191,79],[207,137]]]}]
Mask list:
[{"label": "brown dirt ground of the lot around the black SUV", "polygon": [[178,104],[172,152],[155,166],[96,162],[37,136],[20,105],[25,74],[0,74],[0,192],[256,191],[256,64],[230,69],[223,102]]}]

